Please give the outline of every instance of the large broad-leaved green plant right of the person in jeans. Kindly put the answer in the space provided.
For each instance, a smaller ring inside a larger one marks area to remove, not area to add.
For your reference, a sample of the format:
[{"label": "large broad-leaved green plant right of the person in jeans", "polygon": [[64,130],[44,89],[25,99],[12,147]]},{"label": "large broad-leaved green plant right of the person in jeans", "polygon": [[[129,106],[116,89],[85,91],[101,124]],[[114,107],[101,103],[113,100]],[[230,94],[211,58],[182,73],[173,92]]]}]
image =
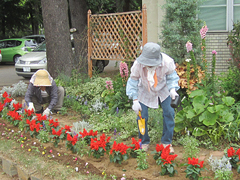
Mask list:
[{"label": "large broad-leaved green plant right of the person in jeans", "polygon": [[189,95],[189,104],[176,114],[175,131],[187,128],[194,136],[207,136],[216,145],[227,134],[234,121],[231,106],[235,100],[224,93],[208,97],[203,90]]}]

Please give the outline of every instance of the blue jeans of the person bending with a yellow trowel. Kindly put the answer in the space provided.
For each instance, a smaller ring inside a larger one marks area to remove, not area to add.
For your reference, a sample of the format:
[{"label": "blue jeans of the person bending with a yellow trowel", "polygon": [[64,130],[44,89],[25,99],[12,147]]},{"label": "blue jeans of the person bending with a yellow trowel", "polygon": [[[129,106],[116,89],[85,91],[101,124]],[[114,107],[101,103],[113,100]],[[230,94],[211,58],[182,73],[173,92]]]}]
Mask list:
[{"label": "blue jeans of the person bending with a yellow trowel", "polygon": [[[163,109],[163,132],[162,132],[162,138],[161,143],[162,144],[171,144],[172,138],[173,138],[173,131],[174,131],[174,109],[170,106],[171,103],[171,97],[168,96],[167,99],[165,99],[163,102],[159,102],[162,109]],[[145,134],[142,135],[139,132],[138,129],[138,137],[142,140],[142,144],[149,144],[150,138],[148,135],[148,107],[140,102],[140,105],[142,107],[142,118],[145,119]],[[137,123],[139,120],[139,116],[137,117]]]}]

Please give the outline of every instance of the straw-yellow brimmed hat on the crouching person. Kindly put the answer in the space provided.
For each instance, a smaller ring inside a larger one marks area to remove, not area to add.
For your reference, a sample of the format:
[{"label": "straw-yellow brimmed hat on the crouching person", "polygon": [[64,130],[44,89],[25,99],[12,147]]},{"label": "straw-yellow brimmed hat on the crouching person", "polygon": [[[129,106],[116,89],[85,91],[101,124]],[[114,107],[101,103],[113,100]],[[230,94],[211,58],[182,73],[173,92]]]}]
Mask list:
[{"label": "straw-yellow brimmed hat on the crouching person", "polygon": [[52,86],[49,74],[45,70],[38,70],[35,74],[34,86]]}]

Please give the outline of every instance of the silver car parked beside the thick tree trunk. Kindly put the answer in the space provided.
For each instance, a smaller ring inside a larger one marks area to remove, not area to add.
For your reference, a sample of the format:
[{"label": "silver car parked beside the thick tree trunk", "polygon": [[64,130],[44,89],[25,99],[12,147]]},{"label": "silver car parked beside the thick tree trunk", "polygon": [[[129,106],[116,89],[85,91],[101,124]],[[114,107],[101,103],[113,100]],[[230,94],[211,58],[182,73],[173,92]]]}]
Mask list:
[{"label": "silver car parked beside the thick tree trunk", "polygon": [[19,58],[15,63],[18,76],[31,77],[37,70],[47,69],[46,42],[37,46],[32,52]]}]

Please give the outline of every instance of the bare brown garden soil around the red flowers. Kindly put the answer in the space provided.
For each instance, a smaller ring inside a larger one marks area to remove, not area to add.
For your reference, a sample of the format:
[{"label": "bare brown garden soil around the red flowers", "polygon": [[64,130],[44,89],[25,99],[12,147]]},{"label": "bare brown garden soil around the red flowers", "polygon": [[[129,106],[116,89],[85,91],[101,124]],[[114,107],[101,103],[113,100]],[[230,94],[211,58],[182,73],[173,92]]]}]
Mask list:
[{"label": "bare brown garden soil around the red flowers", "polygon": [[[21,102],[21,98],[16,99],[19,102]],[[68,115],[61,115],[61,114],[54,114],[53,119],[58,119],[60,122],[60,126],[69,125],[71,126],[74,122],[80,121],[81,116],[79,114],[76,114],[74,112],[69,111]],[[11,129],[18,131],[16,127],[13,125],[7,123],[3,119],[0,118],[0,123],[4,123],[5,126],[0,125],[0,132],[6,131],[6,129]],[[100,134],[101,135],[101,134]],[[74,173],[81,173],[84,175],[88,174],[96,174],[100,177],[103,177],[104,175],[108,176],[108,179],[111,179],[111,175],[115,175],[118,180],[123,177],[123,174],[125,174],[126,179],[145,179],[145,180],[158,180],[158,179],[171,179],[171,180],[183,180],[186,179],[186,173],[184,172],[186,167],[181,166],[180,164],[187,163],[187,160],[183,158],[183,147],[182,146],[173,146],[175,150],[175,154],[177,154],[177,158],[175,160],[175,163],[178,164],[178,167],[175,169],[178,171],[177,174],[174,175],[174,177],[169,177],[168,175],[161,176],[159,172],[161,171],[161,167],[156,164],[156,161],[153,159],[152,151],[155,150],[156,144],[151,144],[147,156],[147,162],[148,162],[148,169],[146,170],[136,170],[137,168],[137,160],[135,158],[130,158],[126,162],[123,162],[122,165],[111,163],[109,160],[109,156],[105,155],[100,161],[97,161],[92,156],[83,156],[80,157],[77,154],[73,154],[70,150],[66,149],[65,142],[59,143],[58,147],[54,147],[53,143],[45,143],[40,144],[40,142],[35,139],[31,138],[29,133],[23,134],[24,137],[27,137],[27,141],[25,142],[24,148],[19,147],[12,147],[14,149],[19,149],[19,151],[23,151],[22,153],[27,153],[29,156],[31,156],[31,153],[28,149],[31,148],[33,145],[38,147],[40,152],[46,152],[44,155],[40,153],[40,156],[42,158],[45,158],[45,162],[48,161],[57,161],[58,163],[65,165],[66,168],[78,168],[78,172],[74,171]],[[111,134],[107,134],[107,136],[111,136]],[[135,137],[137,139],[137,137]],[[2,136],[1,140],[7,140],[6,136]],[[130,145],[131,139],[124,141],[124,143]],[[52,151],[50,153],[50,150]],[[60,154],[60,156],[59,156]],[[204,166],[208,170],[202,171],[202,177],[206,177],[209,179],[214,179],[214,173],[211,171],[210,166],[208,165],[207,159],[210,157],[210,155],[213,155],[213,157],[221,158],[223,156],[223,151],[212,151],[208,149],[201,149],[199,153],[199,160],[204,160]],[[54,156],[54,157],[53,157]],[[77,158],[77,159],[76,159]],[[86,166],[86,163],[88,165]],[[236,170],[233,170],[234,172],[234,180],[240,179],[240,176],[237,174]],[[44,178],[45,179],[45,178]],[[46,179],[49,179],[46,177]],[[86,178],[84,178],[86,179]]]}]

